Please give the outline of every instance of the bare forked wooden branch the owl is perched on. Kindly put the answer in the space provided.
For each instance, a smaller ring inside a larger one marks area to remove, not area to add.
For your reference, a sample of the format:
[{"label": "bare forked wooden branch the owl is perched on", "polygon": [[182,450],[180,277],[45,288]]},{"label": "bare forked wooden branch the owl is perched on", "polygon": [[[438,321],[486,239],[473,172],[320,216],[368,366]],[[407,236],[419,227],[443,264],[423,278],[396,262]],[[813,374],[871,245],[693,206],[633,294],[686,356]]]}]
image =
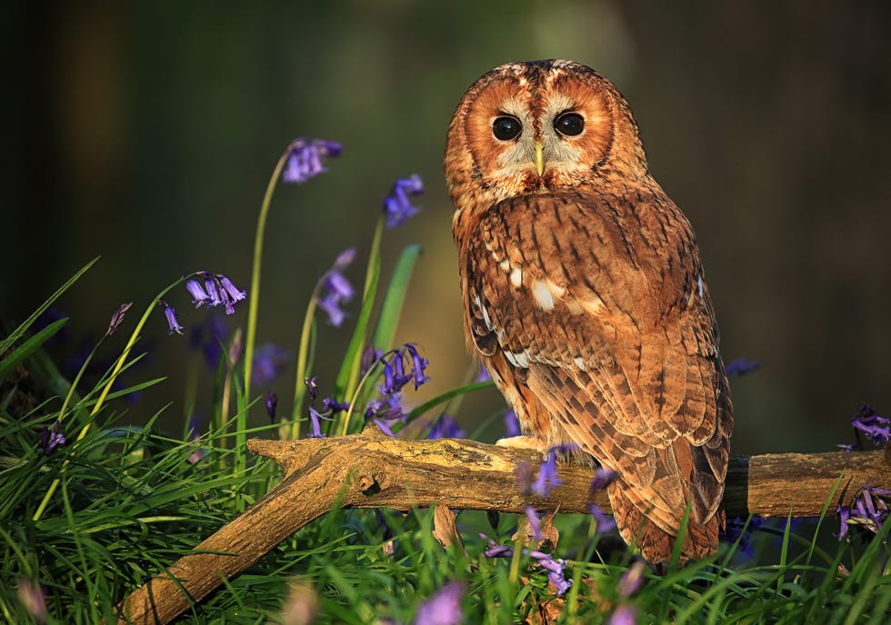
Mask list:
[{"label": "bare forked wooden branch the owl is perched on", "polygon": [[[444,504],[458,510],[585,513],[592,469],[562,465],[563,486],[547,500],[520,492],[517,467],[536,467],[535,451],[441,439],[405,441],[370,427],[361,434],[300,441],[247,441],[275,460],[285,478],[164,574],[118,606],[119,622],[167,623],[245,570],[307,523],[344,508],[409,510]],[[872,482],[891,487],[891,451],[784,453],[733,458],[727,474],[728,516],[817,516],[838,482],[836,500]],[[839,481],[841,477],[841,481]],[[606,511],[604,491],[594,501]]]}]

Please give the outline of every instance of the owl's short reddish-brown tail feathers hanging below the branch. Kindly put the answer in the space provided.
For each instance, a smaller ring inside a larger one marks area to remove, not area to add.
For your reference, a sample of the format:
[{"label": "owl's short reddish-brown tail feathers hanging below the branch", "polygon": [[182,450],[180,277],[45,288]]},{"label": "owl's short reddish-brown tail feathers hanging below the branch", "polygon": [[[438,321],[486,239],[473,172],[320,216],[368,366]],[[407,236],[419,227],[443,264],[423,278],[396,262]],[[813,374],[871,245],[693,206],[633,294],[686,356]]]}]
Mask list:
[{"label": "owl's short reddish-brown tail feathers hanging below the branch", "polygon": [[[619,534],[629,545],[636,545],[647,562],[657,564],[670,561],[677,541],[676,533],[668,533],[650,521],[646,512],[638,509],[635,502],[628,497],[627,488],[621,481],[614,481],[607,487]],[[699,560],[715,553],[717,533],[723,524],[724,511],[717,511],[705,523],[699,523],[691,516],[687,521],[678,563]]]}]

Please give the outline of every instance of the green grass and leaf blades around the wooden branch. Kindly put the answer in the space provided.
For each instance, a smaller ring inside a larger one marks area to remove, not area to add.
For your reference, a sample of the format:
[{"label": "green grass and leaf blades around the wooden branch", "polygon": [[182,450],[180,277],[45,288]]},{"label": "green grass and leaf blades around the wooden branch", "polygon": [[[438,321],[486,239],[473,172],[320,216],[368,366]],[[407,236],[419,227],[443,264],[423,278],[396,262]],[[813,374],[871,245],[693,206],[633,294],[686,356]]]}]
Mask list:
[{"label": "green grass and leaf blades around the wooden branch", "polygon": [[[275,175],[264,214],[274,182]],[[358,311],[355,327],[332,382],[337,399],[353,408],[322,424],[327,435],[361,429],[365,406],[378,394],[382,363],[363,373],[365,347],[369,342],[384,352],[395,347],[391,343],[419,248],[406,248],[386,281],[380,263],[382,233],[379,224],[362,301],[353,309]],[[262,220],[257,242],[262,243]],[[289,415],[285,422],[251,426],[268,423],[255,405],[262,400],[245,393],[255,308],[247,352],[235,362],[224,359],[215,372],[214,394],[205,402],[206,413],[214,417],[209,432],[196,440],[189,440],[185,424],[184,432],[159,427],[163,407],[144,427],[127,426],[121,418],[120,397],[160,381],[111,391],[120,373],[131,370],[140,358],[133,354],[140,349],[139,333],[147,315],[157,308],[155,300],[145,304],[125,351],[93,388],[81,388],[84,370],[66,380],[44,350],[65,322],[39,332],[33,326],[38,313],[88,267],[0,341],[3,622],[114,621],[115,605],[129,592],[162,573],[280,479],[271,461],[247,453],[248,437],[306,432],[305,406],[312,398],[299,384],[293,405],[280,410]],[[257,255],[257,284],[259,274]],[[295,337],[298,382],[304,372],[311,374],[315,359],[317,296],[318,289],[303,332]],[[454,414],[466,393],[488,386],[491,383],[468,383],[446,392],[410,412],[394,430],[413,425],[406,432],[426,431],[444,410]],[[46,455],[38,441],[44,428],[56,422],[66,443]],[[197,451],[204,455],[195,461]],[[743,553],[737,544],[722,545],[713,558],[680,570],[669,568],[658,575],[646,569],[641,587],[626,597],[619,585],[635,561],[633,555],[616,550],[616,537],[599,534],[591,518],[558,515],[560,540],[554,555],[566,559],[566,575],[573,580],[566,596],[558,598],[546,570],[519,546],[512,546],[513,557],[484,554],[490,540],[513,545],[516,516],[458,512],[463,551],[459,546],[445,550],[435,540],[430,510],[333,510],[249,570],[226,580],[178,622],[277,622],[292,597],[293,602],[314,605],[320,623],[412,623],[422,602],[453,582],[464,589],[462,622],[467,623],[541,622],[536,620],[541,614],[547,615],[546,622],[599,623],[608,622],[619,607],[634,610],[639,623],[891,622],[891,521],[872,540],[855,544],[831,536],[831,517],[821,521],[800,535],[791,530],[791,523],[758,531],[752,554]],[[41,589],[45,616],[35,615],[23,600],[21,589],[28,583]]]}]

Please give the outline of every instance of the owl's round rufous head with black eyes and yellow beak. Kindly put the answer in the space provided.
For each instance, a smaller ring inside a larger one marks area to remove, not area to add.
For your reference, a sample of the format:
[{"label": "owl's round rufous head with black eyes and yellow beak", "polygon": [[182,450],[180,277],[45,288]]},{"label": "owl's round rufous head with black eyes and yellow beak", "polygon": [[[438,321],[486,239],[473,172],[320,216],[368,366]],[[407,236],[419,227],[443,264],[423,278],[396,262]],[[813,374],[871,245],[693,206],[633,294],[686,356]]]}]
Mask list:
[{"label": "owl's round rufous head with black eyes and yellow beak", "polygon": [[445,144],[456,206],[647,176],[622,94],[590,67],[548,60],[500,65],[458,104]]}]

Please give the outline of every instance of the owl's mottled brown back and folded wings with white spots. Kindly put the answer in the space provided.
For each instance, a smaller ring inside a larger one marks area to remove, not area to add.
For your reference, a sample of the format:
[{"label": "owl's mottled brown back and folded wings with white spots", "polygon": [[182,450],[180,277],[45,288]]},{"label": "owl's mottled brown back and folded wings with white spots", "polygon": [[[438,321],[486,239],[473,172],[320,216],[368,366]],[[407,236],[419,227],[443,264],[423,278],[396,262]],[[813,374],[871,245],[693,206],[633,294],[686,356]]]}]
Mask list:
[{"label": "owl's mottled brown back and folded wings with white spots", "polygon": [[513,198],[459,245],[476,348],[676,531],[688,501],[716,512],[732,408],[693,233],[657,191]]}]

